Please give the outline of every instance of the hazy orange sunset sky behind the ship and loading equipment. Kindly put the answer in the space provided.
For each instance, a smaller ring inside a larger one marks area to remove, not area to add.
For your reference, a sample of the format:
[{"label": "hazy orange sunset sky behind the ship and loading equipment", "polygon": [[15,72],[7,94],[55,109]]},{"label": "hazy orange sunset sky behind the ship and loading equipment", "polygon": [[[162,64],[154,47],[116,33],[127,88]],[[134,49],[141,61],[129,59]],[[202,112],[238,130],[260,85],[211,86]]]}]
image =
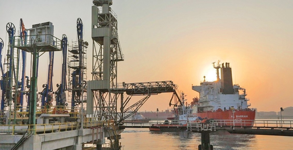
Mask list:
[{"label": "hazy orange sunset sky behind the ship and loading equipment", "polygon": [[[0,38],[6,24],[16,31],[50,21],[54,36],[76,41],[76,19],[84,24],[88,68],[92,64],[91,0],[0,1]],[[293,1],[113,0],[125,60],[118,62],[118,82],[172,80],[188,102],[191,89],[216,79],[213,62],[228,62],[233,83],[246,88],[251,108],[280,111],[293,106]],[[70,43],[69,42],[69,43]],[[5,52],[2,53],[5,57]],[[60,82],[62,53],[55,53],[54,91]],[[40,58],[38,90],[46,83],[48,56]],[[3,61],[3,60],[2,60]],[[28,57],[28,65],[30,58]],[[29,68],[29,67],[28,67]],[[91,80],[91,69],[88,80]],[[170,108],[171,93],[152,95],[140,111]],[[134,103],[135,101],[132,101]],[[118,102],[119,103],[119,102]]]}]

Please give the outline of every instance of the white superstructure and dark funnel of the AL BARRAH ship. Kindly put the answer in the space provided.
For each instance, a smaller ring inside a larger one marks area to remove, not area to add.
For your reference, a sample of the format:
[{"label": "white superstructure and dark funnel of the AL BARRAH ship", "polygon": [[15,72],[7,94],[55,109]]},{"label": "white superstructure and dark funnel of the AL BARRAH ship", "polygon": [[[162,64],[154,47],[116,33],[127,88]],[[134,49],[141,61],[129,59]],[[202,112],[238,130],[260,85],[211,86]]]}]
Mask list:
[{"label": "white superstructure and dark funnel of the AL BARRAH ship", "polygon": [[[232,84],[232,71],[229,63],[218,63],[217,80],[208,82],[203,81],[198,86],[192,86],[192,89],[200,93],[197,112],[229,110],[229,109],[248,109],[250,104],[246,98],[245,88]],[[219,69],[221,69],[221,78],[219,78]]]}]

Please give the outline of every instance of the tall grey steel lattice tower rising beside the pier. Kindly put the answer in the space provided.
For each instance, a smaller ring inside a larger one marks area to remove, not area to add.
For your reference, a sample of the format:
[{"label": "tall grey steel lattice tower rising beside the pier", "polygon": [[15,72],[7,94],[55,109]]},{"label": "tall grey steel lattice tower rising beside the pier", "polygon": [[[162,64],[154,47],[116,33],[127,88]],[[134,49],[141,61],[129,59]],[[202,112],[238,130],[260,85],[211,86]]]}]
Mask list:
[{"label": "tall grey steel lattice tower rising beside the pier", "polygon": [[117,33],[117,16],[110,7],[112,4],[112,0],[93,0],[93,68],[92,81],[88,81],[87,114],[116,121],[119,95],[123,99],[123,91],[117,84],[117,62],[123,61],[124,55]]}]

